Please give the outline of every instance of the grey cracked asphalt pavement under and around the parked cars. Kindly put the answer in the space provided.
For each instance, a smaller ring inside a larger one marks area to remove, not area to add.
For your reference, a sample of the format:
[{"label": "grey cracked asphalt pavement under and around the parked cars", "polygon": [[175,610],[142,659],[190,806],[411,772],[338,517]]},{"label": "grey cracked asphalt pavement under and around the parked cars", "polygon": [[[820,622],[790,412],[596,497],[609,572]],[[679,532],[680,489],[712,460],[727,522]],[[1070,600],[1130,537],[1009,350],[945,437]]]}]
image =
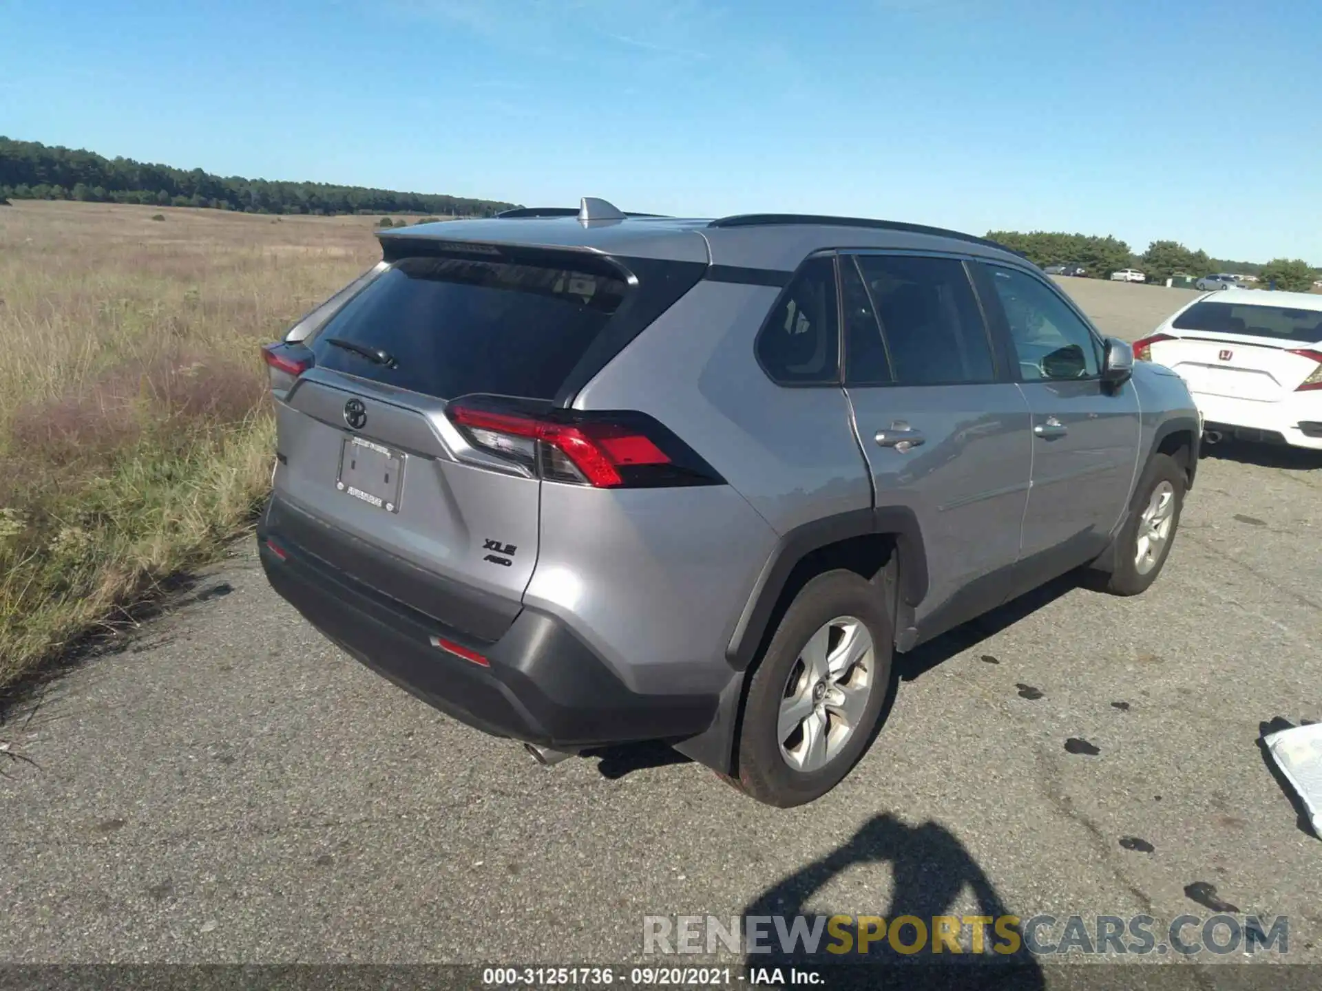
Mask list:
[{"label": "grey cracked asphalt pavement under and around the parked cars", "polygon": [[[1178,303],[1064,284],[1130,338]],[[325,642],[243,540],[7,714],[0,959],[621,962],[645,914],[990,904],[1285,914],[1322,962],[1322,842],[1256,744],[1322,719],[1319,510],[1322,459],[1215,448],[1149,593],[1059,581],[903,659],[788,811],[662,748],[538,766]]]}]

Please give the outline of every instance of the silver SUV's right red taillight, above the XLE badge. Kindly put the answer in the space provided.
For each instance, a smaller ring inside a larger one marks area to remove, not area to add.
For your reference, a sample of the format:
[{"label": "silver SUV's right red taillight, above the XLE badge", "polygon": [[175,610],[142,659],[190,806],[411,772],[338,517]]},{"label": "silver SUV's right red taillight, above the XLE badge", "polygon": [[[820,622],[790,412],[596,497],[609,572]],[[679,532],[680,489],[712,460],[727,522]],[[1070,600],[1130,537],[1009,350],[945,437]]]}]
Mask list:
[{"label": "silver SUV's right red taillight, above the XLE badge", "polygon": [[530,410],[476,396],[452,402],[446,414],[475,448],[550,481],[595,489],[724,482],[646,414]]}]

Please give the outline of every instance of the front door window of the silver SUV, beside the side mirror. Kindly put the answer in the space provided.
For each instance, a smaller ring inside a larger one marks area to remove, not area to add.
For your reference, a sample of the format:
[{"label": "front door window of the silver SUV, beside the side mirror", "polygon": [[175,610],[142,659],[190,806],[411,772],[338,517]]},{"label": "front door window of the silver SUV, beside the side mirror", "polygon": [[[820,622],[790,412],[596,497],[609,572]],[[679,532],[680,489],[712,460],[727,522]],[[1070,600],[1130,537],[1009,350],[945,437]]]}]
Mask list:
[{"label": "front door window of the silver SUV, beside the side mirror", "polygon": [[1026,382],[1096,378],[1097,340],[1055,292],[1026,272],[988,266]]}]

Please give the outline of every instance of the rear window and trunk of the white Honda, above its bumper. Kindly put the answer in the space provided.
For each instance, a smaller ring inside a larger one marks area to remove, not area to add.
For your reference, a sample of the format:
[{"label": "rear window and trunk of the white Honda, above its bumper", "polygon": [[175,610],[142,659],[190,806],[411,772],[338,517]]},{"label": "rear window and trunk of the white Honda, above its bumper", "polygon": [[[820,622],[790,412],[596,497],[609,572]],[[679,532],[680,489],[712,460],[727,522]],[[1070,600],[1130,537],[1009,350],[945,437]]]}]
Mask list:
[{"label": "rear window and trunk of the white Honda, above its bumper", "polygon": [[1269,403],[1311,387],[1319,341],[1322,311],[1200,300],[1136,353],[1178,373],[1191,392]]}]

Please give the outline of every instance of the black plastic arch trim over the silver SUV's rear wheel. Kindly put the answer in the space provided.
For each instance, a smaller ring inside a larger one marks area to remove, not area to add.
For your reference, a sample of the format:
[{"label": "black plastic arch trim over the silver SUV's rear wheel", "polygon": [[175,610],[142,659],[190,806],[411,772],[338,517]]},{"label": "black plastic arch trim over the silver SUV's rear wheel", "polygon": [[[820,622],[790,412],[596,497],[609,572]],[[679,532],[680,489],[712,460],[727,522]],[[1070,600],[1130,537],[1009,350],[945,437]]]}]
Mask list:
[{"label": "black plastic arch trim over the silver SUV's rear wheel", "polygon": [[781,535],[763,564],[726,646],[730,665],[743,671],[752,663],[785,583],[805,556],[829,544],[870,534],[895,535],[900,558],[900,600],[908,606],[923,601],[928,588],[927,548],[912,509],[876,506],[814,519]]}]

